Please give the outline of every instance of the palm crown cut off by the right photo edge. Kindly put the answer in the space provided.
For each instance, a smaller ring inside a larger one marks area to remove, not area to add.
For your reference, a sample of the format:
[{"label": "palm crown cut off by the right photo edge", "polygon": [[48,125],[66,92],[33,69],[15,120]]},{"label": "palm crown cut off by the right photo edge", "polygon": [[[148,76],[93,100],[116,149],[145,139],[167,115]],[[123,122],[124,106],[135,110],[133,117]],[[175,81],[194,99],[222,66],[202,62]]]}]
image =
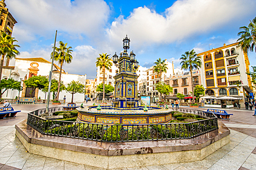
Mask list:
[{"label": "palm crown cut off by the right photo edge", "polygon": [[239,29],[242,31],[238,32],[237,35],[240,36],[240,38],[237,41],[239,41],[242,50],[248,54],[248,50],[253,52],[255,48],[256,52],[256,17],[253,21],[250,21],[248,27],[243,26]]}]

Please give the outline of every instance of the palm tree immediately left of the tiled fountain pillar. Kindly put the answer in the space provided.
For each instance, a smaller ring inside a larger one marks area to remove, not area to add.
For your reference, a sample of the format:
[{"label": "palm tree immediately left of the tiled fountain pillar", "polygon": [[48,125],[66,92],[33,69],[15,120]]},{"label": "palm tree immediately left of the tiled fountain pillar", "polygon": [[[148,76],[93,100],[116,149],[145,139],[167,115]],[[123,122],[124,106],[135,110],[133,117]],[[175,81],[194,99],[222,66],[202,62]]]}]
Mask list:
[{"label": "palm tree immediately left of the tiled fountain pillar", "polygon": [[105,98],[105,70],[109,70],[112,66],[111,59],[109,58],[109,54],[99,54],[100,57],[97,57],[96,67],[100,67],[100,70],[103,71],[103,98]]}]

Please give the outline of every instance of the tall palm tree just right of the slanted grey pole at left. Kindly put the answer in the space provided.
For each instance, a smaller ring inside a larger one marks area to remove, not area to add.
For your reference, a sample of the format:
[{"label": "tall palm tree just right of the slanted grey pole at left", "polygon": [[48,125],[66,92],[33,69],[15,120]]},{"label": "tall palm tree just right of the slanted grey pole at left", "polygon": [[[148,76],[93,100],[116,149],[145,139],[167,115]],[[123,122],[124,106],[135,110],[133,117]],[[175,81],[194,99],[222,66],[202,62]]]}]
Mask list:
[{"label": "tall palm tree just right of the slanted grey pole at left", "polygon": [[[73,56],[71,55],[71,53],[73,52],[73,50],[71,50],[72,47],[66,47],[67,45],[68,43],[63,43],[62,41],[60,41],[60,47],[55,47],[56,52],[55,52],[54,60],[60,63],[60,78],[58,83],[56,100],[59,100],[59,96],[60,96],[60,83],[62,81],[62,65],[64,63],[71,63],[73,59]],[[53,52],[51,56],[53,57]]]}]

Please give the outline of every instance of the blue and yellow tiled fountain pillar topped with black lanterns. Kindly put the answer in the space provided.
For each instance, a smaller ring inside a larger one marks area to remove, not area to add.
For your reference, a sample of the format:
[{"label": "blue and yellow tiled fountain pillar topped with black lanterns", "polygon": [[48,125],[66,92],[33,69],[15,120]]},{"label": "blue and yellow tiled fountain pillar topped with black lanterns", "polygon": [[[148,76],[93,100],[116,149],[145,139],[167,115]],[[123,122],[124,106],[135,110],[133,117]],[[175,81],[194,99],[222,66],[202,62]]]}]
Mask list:
[{"label": "blue and yellow tiled fountain pillar topped with black lanterns", "polygon": [[113,63],[118,65],[118,73],[115,78],[115,94],[113,100],[113,107],[125,109],[125,108],[138,108],[138,81],[136,70],[138,69],[138,61],[136,61],[134,52],[128,54],[130,40],[126,36],[122,40],[124,51],[120,53],[120,56],[115,53],[113,55]]}]

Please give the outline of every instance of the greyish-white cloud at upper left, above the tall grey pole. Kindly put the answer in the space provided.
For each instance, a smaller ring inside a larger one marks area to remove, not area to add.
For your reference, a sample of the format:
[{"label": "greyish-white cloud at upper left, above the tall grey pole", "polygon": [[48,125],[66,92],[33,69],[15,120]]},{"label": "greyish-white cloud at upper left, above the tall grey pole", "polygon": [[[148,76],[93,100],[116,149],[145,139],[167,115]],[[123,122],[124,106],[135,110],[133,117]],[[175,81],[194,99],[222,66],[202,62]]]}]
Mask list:
[{"label": "greyish-white cloud at upper left, above the tall grey pole", "polygon": [[36,34],[44,36],[54,30],[95,36],[103,30],[110,12],[102,0],[12,0],[6,3],[18,21],[14,36],[21,41],[30,41]]}]

